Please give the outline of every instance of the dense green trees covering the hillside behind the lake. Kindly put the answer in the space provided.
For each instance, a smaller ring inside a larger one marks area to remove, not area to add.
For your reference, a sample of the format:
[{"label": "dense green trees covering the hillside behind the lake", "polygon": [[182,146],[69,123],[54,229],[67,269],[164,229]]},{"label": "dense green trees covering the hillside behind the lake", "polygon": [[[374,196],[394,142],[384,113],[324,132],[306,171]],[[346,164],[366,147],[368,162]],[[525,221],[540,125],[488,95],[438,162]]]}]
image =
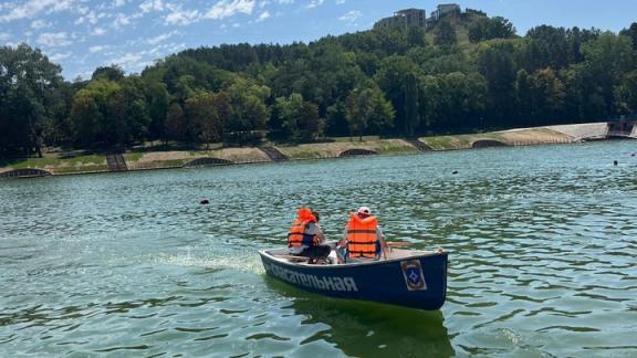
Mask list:
[{"label": "dense green trees covering the hillside behind the lake", "polygon": [[144,140],[252,145],[604,120],[637,112],[637,23],[616,34],[476,10],[435,28],[309,44],[187,50],[142,74],[69,83],[28,45],[0,48],[0,156]]}]

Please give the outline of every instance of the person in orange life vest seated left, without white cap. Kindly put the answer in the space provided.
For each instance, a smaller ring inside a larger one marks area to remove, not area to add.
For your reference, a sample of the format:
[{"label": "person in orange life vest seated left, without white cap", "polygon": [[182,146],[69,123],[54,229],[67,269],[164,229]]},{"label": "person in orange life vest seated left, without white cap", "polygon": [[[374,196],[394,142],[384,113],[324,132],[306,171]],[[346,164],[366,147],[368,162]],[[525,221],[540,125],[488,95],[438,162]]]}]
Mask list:
[{"label": "person in orange life vest seated left, without white cap", "polygon": [[324,241],[325,235],[318,225],[318,213],[310,208],[299,209],[296,220],[288,233],[288,253],[310,257],[310,263],[325,261],[332,248],[322,245]]}]

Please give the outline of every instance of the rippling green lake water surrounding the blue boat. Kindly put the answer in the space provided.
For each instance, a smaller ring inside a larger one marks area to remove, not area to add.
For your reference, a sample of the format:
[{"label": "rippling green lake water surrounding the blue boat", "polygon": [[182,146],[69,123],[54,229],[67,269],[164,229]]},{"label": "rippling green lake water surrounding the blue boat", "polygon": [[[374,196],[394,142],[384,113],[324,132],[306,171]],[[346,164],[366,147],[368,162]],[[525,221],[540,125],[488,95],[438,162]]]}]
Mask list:
[{"label": "rippling green lake water surrounding the blue boat", "polygon": [[[0,356],[636,357],[635,151],[607,141],[2,180]],[[302,204],[328,239],[364,204],[388,240],[448,250],[445,306],[340,301],[267,277],[257,251],[284,244]]]}]

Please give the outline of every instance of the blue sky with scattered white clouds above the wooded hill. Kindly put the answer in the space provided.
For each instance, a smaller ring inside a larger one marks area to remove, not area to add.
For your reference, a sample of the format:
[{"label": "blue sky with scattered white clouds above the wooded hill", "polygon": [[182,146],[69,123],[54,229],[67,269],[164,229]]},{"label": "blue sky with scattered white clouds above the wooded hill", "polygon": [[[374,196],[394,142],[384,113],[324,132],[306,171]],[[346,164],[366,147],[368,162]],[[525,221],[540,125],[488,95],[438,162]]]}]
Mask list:
[{"label": "blue sky with scattered white clouds above the wooded hill", "polygon": [[[0,44],[27,43],[90,78],[98,66],[127,73],[185,49],[222,43],[310,42],[368,30],[407,8],[431,12],[451,1],[409,0],[0,0]],[[618,32],[637,22],[637,0],[464,0],[504,17],[524,35],[535,25]]]}]

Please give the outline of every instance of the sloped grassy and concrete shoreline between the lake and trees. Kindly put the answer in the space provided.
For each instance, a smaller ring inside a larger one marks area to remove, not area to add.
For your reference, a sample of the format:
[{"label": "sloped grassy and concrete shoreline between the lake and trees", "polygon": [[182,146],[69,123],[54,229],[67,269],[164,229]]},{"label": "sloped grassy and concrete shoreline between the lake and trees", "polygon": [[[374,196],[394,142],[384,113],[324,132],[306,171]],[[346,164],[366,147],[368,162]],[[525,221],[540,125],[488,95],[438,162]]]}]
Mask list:
[{"label": "sloped grassy and concrete shoreline between the lake and trees", "polygon": [[17,160],[0,167],[0,178],[88,175],[209,166],[251,165],[272,161],[334,159],[365,155],[417,154],[489,147],[520,147],[607,140],[637,139],[637,126],[622,136],[609,133],[610,123],[519,128],[481,134],[379,139],[336,138],[330,143],[295,146],[261,146],[211,150],[129,151],[122,155],[91,155],[72,158],[48,157]]}]

